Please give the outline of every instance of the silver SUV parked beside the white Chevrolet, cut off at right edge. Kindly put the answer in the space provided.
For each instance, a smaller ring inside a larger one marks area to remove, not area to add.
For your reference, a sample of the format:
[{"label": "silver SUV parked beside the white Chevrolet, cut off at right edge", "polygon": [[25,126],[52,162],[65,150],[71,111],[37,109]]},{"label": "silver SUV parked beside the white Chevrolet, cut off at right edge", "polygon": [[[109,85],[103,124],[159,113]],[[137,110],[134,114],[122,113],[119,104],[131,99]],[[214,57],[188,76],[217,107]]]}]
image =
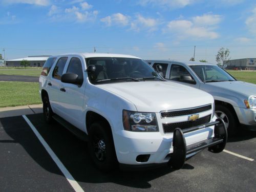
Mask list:
[{"label": "silver SUV parked beside the white Chevrolet, cut off at right edge", "polygon": [[229,135],[239,124],[256,130],[256,84],[238,81],[217,65],[195,61],[147,60],[162,68],[162,76],[214,96],[216,116],[223,119]]}]

